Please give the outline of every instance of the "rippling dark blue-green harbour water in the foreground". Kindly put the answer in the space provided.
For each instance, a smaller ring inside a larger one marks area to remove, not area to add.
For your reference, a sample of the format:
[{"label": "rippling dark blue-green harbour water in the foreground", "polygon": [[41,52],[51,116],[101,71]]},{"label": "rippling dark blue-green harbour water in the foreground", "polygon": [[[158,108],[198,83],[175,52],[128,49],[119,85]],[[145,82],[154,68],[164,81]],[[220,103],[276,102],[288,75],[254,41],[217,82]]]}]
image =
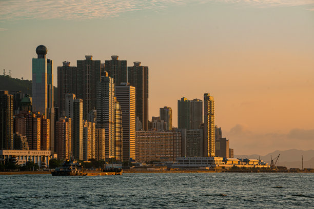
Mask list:
[{"label": "rippling dark blue-green harbour water in the foreground", "polygon": [[1,175],[0,208],[314,208],[314,174]]}]

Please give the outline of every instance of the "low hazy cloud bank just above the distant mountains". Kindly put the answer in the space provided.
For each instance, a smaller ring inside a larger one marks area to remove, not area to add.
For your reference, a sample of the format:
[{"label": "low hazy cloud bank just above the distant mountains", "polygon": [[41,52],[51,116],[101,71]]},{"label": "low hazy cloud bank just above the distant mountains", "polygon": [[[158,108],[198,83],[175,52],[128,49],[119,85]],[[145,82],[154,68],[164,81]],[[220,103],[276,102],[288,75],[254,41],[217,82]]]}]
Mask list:
[{"label": "low hazy cloud bank just above the distant mountains", "polygon": [[238,154],[267,154],[273,150],[314,148],[314,129],[293,129],[287,134],[253,133],[242,124],[235,125],[223,136],[230,140],[230,148]]}]

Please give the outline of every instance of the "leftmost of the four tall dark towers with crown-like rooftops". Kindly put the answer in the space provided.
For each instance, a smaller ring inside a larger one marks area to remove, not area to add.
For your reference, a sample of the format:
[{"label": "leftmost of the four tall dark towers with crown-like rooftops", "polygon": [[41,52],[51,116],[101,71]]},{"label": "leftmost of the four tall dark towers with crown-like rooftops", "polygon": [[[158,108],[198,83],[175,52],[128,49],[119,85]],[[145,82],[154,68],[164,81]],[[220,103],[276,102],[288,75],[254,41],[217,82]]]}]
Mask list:
[{"label": "leftmost of the four tall dark towers with crown-like rooftops", "polygon": [[57,80],[58,80],[58,108],[60,116],[63,115],[66,107],[66,95],[76,94],[77,86],[80,85],[77,81],[77,68],[70,66],[69,61],[63,61],[63,66],[57,67]]}]

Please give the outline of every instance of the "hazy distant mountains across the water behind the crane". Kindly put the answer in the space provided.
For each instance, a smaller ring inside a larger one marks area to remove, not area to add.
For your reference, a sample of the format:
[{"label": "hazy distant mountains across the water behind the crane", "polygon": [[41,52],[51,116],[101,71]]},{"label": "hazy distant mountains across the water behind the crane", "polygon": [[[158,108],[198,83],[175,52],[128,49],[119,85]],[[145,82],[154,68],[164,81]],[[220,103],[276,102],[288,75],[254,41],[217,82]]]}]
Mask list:
[{"label": "hazy distant mountains across the water behind the crane", "polygon": [[270,164],[270,156],[272,159],[276,158],[280,154],[279,160],[277,162],[280,166],[287,166],[288,168],[301,168],[302,161],[301,156],[303,155],[303,164],[304,168],[314,168],[314,150],[285,150],[280,151],[276,150],[272,153],[267,155],[234,155],[236,158],[253,158],[253,159],[260,159],[264,160],[265,162]]}]

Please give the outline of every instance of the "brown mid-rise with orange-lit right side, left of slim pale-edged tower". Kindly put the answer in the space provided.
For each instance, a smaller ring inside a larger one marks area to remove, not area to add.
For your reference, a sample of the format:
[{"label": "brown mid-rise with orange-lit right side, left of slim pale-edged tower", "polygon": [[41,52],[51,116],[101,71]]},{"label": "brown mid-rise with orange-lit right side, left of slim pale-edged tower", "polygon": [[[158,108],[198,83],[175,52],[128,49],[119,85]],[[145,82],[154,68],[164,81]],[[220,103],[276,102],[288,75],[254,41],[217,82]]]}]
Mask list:
[{"label": "brown mid-rise with orange-lit right side, left of slim pale-edged tower", "polygon": [[71,159],[72,154],[72,119],[61,117],[55,124],[56,154],[58,159]]}]

